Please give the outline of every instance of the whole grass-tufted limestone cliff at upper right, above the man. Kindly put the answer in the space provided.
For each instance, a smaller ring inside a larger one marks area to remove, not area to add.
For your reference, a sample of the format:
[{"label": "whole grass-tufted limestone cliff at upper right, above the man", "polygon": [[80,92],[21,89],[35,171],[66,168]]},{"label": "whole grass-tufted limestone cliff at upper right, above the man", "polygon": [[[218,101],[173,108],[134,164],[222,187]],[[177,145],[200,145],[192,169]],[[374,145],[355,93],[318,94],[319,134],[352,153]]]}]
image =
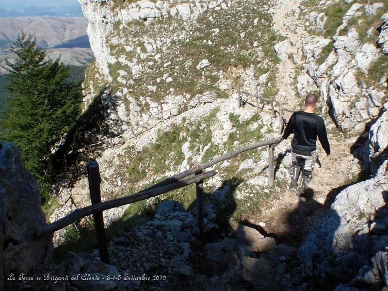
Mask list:
[{"label": "whole grass-tufted limestone cliff at upper right, above the man", "polygon": [[387,76],[383,74],[387,7],[378,1],[335,2],[332,7],[343,9],[343,16],[333,35],[323,29],[330,15],[315,11],[328,11],[329,5],[320,4],[304,14],[310,31],[323,36],[304,39],[306,62],[298,77],[298,93],[303,95],[307,88],[315,87],[341,130],[363,133],[366,124],[385,110],[383,104],[387,101]]}]

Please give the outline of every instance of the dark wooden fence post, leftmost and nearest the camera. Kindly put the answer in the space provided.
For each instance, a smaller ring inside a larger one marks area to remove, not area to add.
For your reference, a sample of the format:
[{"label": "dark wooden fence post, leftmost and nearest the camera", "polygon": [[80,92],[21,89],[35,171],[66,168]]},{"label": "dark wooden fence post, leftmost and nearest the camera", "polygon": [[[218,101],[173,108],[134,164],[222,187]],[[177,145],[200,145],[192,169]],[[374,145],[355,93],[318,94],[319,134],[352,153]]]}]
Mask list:
[{"label": "dark wooden fence post, leftmost and nearest the camera", "polygon": [[[89,181],[89,191],[90,191],[90,200],[92,204],[101,202],[101,177],[100,171],[98,168],[97,162],[88,162],[86,164],[86,169],[88,172],[88,181]],[[109,264],[109,253],[108,253],[108,241],[105,234],[104,218],[102,216],[102,211],[96,214],[93,214],[94,226],[96,228],[97,243],[98,249],[100,251],[101,261]]]}]

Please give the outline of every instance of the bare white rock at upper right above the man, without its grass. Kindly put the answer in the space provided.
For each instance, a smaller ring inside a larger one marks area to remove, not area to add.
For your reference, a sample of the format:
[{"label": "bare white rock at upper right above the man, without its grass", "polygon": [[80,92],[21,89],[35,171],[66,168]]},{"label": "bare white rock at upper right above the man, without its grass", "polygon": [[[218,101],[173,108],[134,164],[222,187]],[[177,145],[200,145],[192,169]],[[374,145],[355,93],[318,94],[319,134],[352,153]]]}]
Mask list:
[{"label": "bare white rock at upper right above the man, without its grass", "polygon": [[[363,132],[366,124],[378,117],[384,103],[383,96],[386,95],[387,76],[384,80],[377,80],[380,81],[379,86],[368,85],[359,76],[369,78],[369,68],[382,54],[387,53],[387,16],[381,17],[382,26],[377,40],[381,49],[370,42],[364,42],[367,35],[359,35],[355,28],[348,26],[353,17],[375,15],[377,9],[382,7],[381,3],[375,4],[378,5],[354,3],[351,6],[332,37],[332,51],[323,63],[318,58],[323,47],[330,45],[330,41],[316,36],[303,40],[303,52],[307,60],[298,77],[298,93],[303,95],[307,90],[312,90],[311,79],[314,80],[315,90],[320,90],[321,97],[331,108],[331,116],[344,131]],[[316,27],[321,29],[318,24]],[[368,33],[370,36],[372,32]]]}]

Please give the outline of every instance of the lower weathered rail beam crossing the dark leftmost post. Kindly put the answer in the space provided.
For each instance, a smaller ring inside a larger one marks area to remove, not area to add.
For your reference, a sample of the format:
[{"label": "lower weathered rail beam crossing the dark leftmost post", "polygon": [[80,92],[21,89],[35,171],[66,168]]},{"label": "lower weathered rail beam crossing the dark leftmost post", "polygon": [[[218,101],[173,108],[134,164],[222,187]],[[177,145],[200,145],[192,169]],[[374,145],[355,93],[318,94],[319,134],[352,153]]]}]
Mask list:
[{"label": "lower weathered rail beam crossing the dark leftmost post", "polygon": [[187,178],[184,180],[180,180],[180,181],[177,181],[175,183],[164,185],[162,187],[143,190],[143,191],[140,191],[140,192],[135,193],[135,194],[130,195],[130,196],[125,196],[125,197],[121,197],[121,198],[117,198],[117,199],[113,199],[113,200],[109,200],[109,201],[105,201],[105,202],[100,202],[97,204],[93,204],[93,205],[89,205],[89,206],[86,206],[83,208],[76,209],[73,212],[71,212],[70,214],[66,215],[65,217],[63,217],[61,219],[58,219],[57,221],[55,221],[53,223],[39,227],[37,232],[36,232],[36,236],[41,236],[41,235],[44,235],[46,233],[57,231],[61,228],[64,228],[65,226],[68,226],[69,224],[71,224],[77,220],[80,220],[81,218],[83,218],[85,216],[95,214],[95,213],[101,212],[103,210],[127,205],[127,204],[134,203],[134,202],[141,201],[141,200],[145,200],[145,199],[148,199],[150,197],[155,197],[155,196],[158,196],[160,194],[164,194],[164,193],[173,191],[175,189],[182,188],[182,187],[190,185],[190,184],[194,184],[200,180],[204,180],[204,179],[213,177],[216,174],[217,174],[217,172],[212,170],[212,171],[197,175],[193,178]]}]

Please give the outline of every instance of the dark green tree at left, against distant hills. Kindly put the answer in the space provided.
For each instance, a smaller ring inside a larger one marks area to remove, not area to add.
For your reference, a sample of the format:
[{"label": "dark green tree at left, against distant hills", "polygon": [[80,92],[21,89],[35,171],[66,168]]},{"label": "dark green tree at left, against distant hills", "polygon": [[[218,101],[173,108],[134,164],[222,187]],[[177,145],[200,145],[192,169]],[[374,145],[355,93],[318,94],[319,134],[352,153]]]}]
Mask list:
[{"label": "dark green tree at left, against distant hills", "polygon": [[1,139],[16,143],[46,199],[55,174],[50,156],[79,116],[81,85],[68,83],[69,66],[47,60],[31,35],[20,34],[11,50],[17,60],[5,68],[14,97],[3,113]]}]

